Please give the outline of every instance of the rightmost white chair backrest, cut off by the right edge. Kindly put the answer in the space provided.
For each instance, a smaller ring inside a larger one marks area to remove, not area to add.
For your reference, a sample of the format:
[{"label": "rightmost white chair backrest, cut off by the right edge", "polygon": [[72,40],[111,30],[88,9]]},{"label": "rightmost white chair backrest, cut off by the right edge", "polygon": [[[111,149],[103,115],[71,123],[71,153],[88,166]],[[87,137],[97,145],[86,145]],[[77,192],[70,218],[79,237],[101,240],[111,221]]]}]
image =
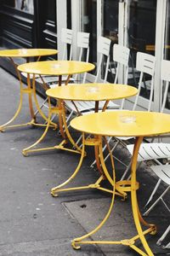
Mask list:
[{"label": "rightmost white chair backrest, cut off by the right edge", "polygon": [[161,104],[161,112],[163,112],[165,108],[165,104],[167,101],[167,92],[170,82],[170,61],[162,60],[161,61],[161,80],[165,81],[164,93],[162,96],[162,104]]}]

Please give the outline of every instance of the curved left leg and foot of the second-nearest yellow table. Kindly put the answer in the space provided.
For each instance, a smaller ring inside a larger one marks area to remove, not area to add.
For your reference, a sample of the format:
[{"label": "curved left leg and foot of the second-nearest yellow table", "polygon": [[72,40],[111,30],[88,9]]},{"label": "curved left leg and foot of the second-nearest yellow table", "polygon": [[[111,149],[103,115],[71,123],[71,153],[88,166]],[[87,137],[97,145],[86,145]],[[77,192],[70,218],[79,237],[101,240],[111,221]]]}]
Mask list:
[{"label": "curved left leg and foot of the second-nearest yellow table", "polygon": [[[81,166],[82,166],[82,160],[84,158],[85,155],[85,137],[84,134],[82,134],[82,154],[81,154],[81,158],[79,160],[78,166],[75,170],[75,172],[73,172],[73,174],[71,175],[71,177],[69,177],[64,183],[61,183],[59,186],[51,189],[51,195],[53,196],[57,196],[57,193],[61,192],[61,191],[69,191],[69,190],[76,190],[76,189],[82,189],[82,187],[80,188],[70,188],[70,189],[60,189],[62,187],[64,187],[66,184],[70,183],[71,180],[76,177],[77,173],[79,172]],[[87,186],[84,187],[87,189]]]}]

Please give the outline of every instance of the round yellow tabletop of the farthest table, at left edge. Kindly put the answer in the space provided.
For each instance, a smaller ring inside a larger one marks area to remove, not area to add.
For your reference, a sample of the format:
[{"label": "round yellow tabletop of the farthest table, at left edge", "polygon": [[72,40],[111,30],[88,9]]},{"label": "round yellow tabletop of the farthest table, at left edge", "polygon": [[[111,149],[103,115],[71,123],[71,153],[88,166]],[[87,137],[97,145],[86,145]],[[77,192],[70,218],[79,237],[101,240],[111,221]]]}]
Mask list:
[{"label": "round yellow tabletop of the farthest table, at left edge", "polygon": [[56,55],[57,49],[2,49],[0,57],[36,57],[45,55]]}]

